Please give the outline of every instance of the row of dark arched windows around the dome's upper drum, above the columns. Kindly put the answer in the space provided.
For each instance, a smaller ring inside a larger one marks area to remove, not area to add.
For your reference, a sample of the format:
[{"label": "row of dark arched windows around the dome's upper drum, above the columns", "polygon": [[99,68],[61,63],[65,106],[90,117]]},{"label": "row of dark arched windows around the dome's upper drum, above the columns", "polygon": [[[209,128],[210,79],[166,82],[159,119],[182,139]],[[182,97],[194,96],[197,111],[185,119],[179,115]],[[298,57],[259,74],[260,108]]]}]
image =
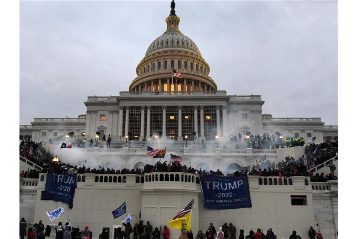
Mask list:
[{"label": "row of dark arched windows around the dome's upper drum, above the columns", "polygon": [[[184,67],[183,67],[183,64],[182,64],[182,61],[181,60],[178,60],[177,61],[177,64],[176,66],[174,65],[174,60],[171,60],[170,61],[170,68],[169,69],[185,69],[185,70],[191,70],[191,71],[197,71],[197,72],[200,72],[200,73],[204,73],[206,75],[207,73],[207,68],[206,67],[203,67],[202,65],[198,65],[198,63],[194,63],[193,62],[190,62],[190,64],[188,64],[188,61],[184,61]],[[168,69],[168,61],[164,61],[164,69]],[[155,70],[161,70],[162,69],[162,66],[161,66],[161,61],[158,61],[157,63],[157,68],[155,68],[155,63],[153,62],[151,64],[151,67],[150,67],[150,64],[147,64],[147,66],[143,66],[142,68],[140,68],[139,70],[139,75],[142,75],[142,73],[148,73],[149,71],[155,71]]]}]

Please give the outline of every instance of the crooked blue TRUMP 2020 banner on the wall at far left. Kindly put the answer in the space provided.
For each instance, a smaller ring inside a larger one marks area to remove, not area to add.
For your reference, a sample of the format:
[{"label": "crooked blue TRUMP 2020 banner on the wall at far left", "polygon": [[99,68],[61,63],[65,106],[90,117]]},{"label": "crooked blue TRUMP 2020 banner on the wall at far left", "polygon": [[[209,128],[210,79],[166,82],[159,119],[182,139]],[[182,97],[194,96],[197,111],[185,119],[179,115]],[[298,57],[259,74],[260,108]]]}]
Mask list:
[{"label": "crooked blue TRUMP 2020 banner on the wall at far left", "polygon": [[77,187],[76,174],[63,175],[61,173],[47,173],[43,200],[53,200],[68,204],[73,207],[74,189]]}]

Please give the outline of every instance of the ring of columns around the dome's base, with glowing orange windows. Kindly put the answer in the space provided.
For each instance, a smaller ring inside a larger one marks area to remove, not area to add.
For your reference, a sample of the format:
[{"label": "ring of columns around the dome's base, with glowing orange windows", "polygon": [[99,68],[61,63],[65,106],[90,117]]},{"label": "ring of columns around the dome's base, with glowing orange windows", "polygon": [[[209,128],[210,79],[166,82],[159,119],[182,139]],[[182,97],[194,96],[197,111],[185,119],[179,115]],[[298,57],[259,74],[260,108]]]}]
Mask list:
[{"label": "ring of columns around the dome's base, with glowing orange windows", "polygon": [[[187,78],[183,78],[184,83],[182,85],[182,92],[186,91],[186,85],[187,85],[187,80],[188,80],[188,91],[196,91],[195,89],[195,81],[192,79],[187,79]],[[167,92],[170,92],[170,86],[171,86],[171,79],[167,78],[166,80],[166,85],[167,85]],[[175,82],[175,81],[174,81]],[[174,83],[173,82],[173,83]],[[158,80],[158,84],[159,84],[159,91],[164,91],[164,82],[162,84],[161,79]],[[199,91],[201,91],[201,85],[202,83],[200,81],[197,82],[197,86],[199,87]],[[155,86],[155,88],[154,88]],[[157,86],[157,82],[154,83],[154,80],[150,81],[150,91],[156,91],[158,88]],[[209,84],[207,83],[203,83],[203,90],[204,91],[214,91],[214,88],[211,87]],[[154,90],[153,90],[154,89]],[[136,87],[134,87],[134,91],[147,91],[147,82],[144,82],[144,89],[142,89],[141,85],[138,85]],[[174,83],[174,91],[178,91],[178,84]]]}]

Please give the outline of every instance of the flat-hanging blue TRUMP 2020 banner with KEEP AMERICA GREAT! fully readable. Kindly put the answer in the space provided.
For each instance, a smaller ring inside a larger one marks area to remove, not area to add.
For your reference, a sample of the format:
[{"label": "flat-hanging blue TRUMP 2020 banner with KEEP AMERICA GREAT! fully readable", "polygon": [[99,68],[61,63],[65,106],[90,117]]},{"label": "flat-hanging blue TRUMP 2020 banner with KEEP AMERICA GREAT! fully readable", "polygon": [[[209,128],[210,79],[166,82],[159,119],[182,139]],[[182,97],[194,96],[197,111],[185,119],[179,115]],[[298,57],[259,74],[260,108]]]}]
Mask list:
[{"label": "flat-hanging blue TRUMP 2020 banner with KEEP AMERICA GREAT! fully readable", "polygon": [[203,207],[233,209],[251,207],[247,176],[200,176]]}]

